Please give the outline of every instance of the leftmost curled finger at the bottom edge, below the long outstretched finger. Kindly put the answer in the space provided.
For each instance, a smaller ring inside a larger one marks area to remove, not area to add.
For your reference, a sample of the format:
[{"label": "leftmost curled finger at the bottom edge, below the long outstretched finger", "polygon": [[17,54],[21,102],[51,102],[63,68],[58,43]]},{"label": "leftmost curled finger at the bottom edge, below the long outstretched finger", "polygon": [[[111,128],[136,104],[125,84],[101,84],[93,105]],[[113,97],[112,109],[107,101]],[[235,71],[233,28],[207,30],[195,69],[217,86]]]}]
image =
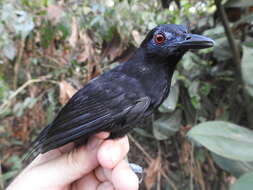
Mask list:
[{"label": "leftmost curled finger at the bottom edge, below the long outstretched finger", "polygon": [[79,179],[78,181],[76,181],[73,184],[72,189],[76,189],[76,190],[84,190],[84,189],[97,190],[98,185],[99,185],[99,181],[96,179],[96,177],[93,173],[90,173],[89,175],[86,175],[86,176],[82,177],[81,179]]}]

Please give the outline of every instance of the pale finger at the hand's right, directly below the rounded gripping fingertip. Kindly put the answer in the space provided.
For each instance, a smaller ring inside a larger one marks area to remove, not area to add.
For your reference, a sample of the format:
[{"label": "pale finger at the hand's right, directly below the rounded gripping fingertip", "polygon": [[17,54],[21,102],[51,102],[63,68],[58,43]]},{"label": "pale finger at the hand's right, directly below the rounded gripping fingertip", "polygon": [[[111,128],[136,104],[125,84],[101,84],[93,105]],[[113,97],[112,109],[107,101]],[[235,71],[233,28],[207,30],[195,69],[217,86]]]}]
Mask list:
[{"label": "pale finger at the hand's right, directly below the rounded gripping fingertip", "polygon": [[125,160],[112,170],[112,183],[115,189],[120,190],[137,190],[139,187],[138,177]]}]

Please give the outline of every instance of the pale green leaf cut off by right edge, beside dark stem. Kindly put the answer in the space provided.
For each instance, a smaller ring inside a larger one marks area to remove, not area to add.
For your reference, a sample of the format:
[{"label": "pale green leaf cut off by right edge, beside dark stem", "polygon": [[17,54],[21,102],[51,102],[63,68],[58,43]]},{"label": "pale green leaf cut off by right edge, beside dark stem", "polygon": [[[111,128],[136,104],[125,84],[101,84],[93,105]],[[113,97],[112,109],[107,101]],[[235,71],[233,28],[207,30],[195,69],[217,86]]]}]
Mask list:
[{"label": "pale green leaf cut off by right edge, beside dark stem", "polygon": [[253,48],[243,46],[242,56],[242,77],[245,84],[245,88],[248,90],[251,96],[253,96]]}]

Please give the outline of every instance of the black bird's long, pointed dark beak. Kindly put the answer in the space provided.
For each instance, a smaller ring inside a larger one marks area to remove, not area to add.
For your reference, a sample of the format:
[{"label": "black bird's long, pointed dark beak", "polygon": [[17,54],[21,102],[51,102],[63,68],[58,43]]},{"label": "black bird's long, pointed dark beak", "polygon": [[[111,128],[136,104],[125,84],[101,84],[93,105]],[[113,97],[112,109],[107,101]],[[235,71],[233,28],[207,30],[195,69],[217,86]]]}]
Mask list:
[{"label": "black bird's long, pointed dark beak", "polygon": [[214,45],[214,41],[211,38],[197,35],[197,34],[187,34],[185,40],[178,44],[179,47],[187,49],[202,49],[209,48]]}]

